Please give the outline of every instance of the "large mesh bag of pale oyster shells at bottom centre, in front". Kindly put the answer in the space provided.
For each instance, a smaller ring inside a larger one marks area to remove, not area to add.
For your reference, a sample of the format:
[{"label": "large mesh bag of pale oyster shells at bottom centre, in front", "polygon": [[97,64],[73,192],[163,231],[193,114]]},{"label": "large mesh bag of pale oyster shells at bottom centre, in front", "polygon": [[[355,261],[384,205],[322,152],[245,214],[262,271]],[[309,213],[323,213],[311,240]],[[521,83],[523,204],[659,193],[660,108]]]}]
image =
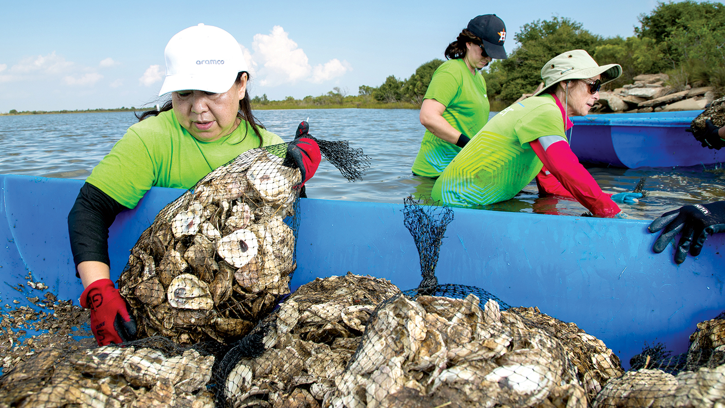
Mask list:
[{"label": "large mesh bag of pale oyster shells at bottom centre, in front", "polygon": [[586,407],[559,340],[492,299],[397,295],[323,407]]}]

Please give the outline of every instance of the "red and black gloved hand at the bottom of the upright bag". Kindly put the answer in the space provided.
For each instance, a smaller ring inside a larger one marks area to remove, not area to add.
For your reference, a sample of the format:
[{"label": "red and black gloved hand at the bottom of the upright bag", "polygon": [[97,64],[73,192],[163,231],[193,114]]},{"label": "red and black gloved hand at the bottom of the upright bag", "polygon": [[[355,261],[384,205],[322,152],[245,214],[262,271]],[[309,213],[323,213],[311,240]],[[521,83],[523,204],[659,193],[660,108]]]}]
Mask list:
[{"label": "red and black gloved hand at the bottom of the upright bag", "polygon": [[91,283],[80,295],[80,306],[91,309],[91,331],[99,346],[123,343],[136,337],[136,320],[109,279]]}]

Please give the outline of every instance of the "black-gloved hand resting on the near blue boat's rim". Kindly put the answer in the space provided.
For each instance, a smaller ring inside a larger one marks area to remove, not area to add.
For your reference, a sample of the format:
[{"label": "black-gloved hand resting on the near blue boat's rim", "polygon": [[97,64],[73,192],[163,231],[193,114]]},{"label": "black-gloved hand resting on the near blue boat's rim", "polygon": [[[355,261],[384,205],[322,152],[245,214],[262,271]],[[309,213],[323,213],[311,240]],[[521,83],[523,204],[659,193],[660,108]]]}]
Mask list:
[{"label": "black-gloved hand resting on the near blue boat's rim", "polygon": [[[682,264],[687,252],[700,255],[705,240],[717,232],[725,232],[725,201],[710,204],[685,205],[678,210],[668,211],[650,224],[650,232],[664,230],[655,241],[652,250],[660,253],[682,232],[675,252],[675,262]],[[693,240],[695,240],[693,242]]]}]

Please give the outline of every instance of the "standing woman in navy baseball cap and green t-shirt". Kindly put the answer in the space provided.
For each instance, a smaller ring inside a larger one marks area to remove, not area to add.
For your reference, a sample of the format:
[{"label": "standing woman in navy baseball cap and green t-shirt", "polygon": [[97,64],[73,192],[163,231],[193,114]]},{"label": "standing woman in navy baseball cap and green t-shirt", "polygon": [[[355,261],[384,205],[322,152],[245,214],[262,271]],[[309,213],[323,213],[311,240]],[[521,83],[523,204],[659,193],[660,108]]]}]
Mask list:
[{"label": "standing woman in navy baseball cap and green t-shirt", "polygon": [[506,26],[496,15],[479,15],[448,44],[448,61],[431,78],[421,105],[426,127],[413,163],[416,176],[437,177],[469,138],[489,120],[489,99],[481,68],[506,59]]}]

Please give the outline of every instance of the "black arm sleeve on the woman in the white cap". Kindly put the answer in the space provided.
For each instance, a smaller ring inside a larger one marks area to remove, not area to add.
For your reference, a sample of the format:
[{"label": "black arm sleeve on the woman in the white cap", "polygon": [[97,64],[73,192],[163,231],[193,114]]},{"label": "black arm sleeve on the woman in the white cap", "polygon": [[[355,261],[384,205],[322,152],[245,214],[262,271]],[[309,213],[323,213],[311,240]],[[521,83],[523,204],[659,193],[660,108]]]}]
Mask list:
[{"label": "black arm sleeve on the woman in the white cap", "polygon": [[68,236],[73,262],[78,275],[78,264],[83,261],[99,261],[110,266],[108,258],[108,229],[124,205],[102,192],[93,184],[80,187],[75,204],[68,213]]}]

